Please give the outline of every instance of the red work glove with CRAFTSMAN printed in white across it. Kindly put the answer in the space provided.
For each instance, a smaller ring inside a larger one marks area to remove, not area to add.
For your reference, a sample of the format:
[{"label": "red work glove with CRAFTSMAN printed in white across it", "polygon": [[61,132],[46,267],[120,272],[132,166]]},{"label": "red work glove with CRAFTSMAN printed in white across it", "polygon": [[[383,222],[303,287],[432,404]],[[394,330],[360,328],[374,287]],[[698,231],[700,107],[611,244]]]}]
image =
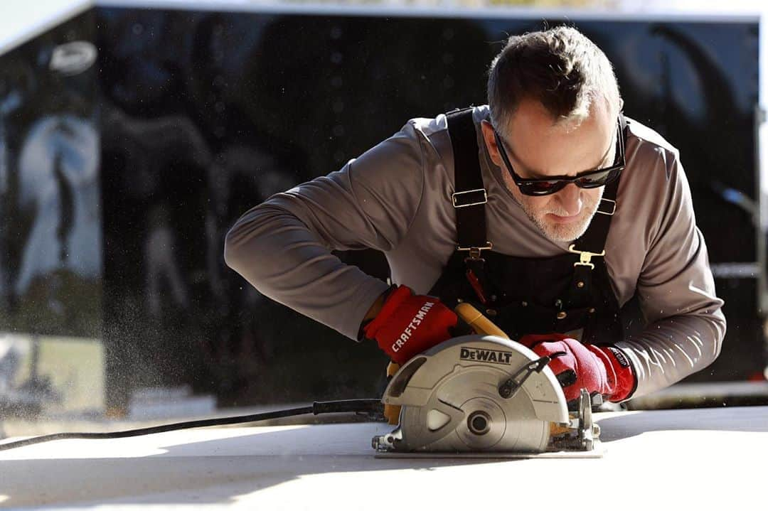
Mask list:
[{"label": "red work glove with CRAFTSMAN printed in white across it", "polygon": [[402,365],[415,354],[455,337],[457,322],[455,312],[438,298],[414,295],[401,285],[389,293],[379,314],[362,331]]}]

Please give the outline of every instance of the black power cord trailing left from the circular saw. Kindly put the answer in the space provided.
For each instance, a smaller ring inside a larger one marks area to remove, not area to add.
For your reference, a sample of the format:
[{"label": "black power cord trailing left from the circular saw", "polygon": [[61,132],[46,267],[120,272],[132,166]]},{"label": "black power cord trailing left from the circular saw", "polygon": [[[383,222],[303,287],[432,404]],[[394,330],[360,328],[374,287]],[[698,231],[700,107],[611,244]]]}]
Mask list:
[{"label": "black power cord trailing left from the circular saw", "polygon": [[174,424],[161,426],[141,427],[135,430],[114,431],[111,433],[56,433],[31,437],[15,442],[0,443],[0,450],[15,449],[34,443],[50,442],[51,440],[89,439],[89,438],[127,438],[165,433],[166,431],[189,430],[194,427],[224,426],[227,424],[243,424],[258,422],[260,420],[279,419],[280,417],[293,417],[306,414],[338,414],[346,412],[358,412],[381,415],[384,405],[378,399],[345,399],[343,401],[315,401],[312,406],[300,408],[287,408],[286,410],[274,410],[262,414],[237,415],[234,417],[217,417],[215,419],[187,420]]}]

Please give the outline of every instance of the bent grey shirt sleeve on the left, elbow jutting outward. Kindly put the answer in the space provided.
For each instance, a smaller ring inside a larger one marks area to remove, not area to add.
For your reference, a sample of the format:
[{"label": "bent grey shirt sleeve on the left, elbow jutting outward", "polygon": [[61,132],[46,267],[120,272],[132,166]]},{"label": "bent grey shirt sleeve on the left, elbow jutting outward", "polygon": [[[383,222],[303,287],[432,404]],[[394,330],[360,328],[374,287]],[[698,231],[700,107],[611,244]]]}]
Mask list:
[{"label": "bent grey shirt sleeve on the left, elbow jutting outward", "polygon": [[341,170],[250,209],[227,233],[227,265],[263,295],[356,339],[388,285],[331,251],[398,245],[422,198],[424,140],[406,124]]}]

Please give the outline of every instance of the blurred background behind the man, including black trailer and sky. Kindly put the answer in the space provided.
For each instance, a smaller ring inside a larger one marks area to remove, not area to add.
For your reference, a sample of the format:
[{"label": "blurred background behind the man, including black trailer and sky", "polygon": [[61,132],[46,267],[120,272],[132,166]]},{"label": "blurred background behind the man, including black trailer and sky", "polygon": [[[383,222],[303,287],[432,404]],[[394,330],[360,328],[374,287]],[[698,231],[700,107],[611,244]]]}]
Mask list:
[{"label": "blurred background behind the man, including black trailer and sky", "polygon": [[759,3],[4,2],[0,437],[378,395],[384,355],[260,295],[223,237],[409,118],[484,104],[505,38],[561,23],[680,149],[726,302],[717,362],[631,406],[765,404]]}]

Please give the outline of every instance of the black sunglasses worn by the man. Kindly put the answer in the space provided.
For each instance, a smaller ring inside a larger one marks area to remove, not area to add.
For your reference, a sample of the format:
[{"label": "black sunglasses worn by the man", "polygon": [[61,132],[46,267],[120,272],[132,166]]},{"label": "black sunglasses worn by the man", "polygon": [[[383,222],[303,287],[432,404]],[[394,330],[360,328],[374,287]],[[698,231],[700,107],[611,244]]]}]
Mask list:
[{"label": "black sunglasses worn by the man", "polygon": [[521,176],[515,173],[512,168],[512,164],[509,162],[507,151],[504,148],[504,142],[502,137],[498,135],[498,131],[493,130],[496,137],[496,145],[498,146],[498,152],[502,155],[502,160],[507,166],[509,173],[512,176],[512,180],[520,189],[520,193],[523,195],[542,196],[549,195],[550,193],[559,192],[568,183],[574,183],[574,185],[580,188],[598,188],[599,186],[605,186],[607,183],[615,180],[621,171],[624,170],[626,161],[624,160],[624,134],[621,131],[621,120],[617,122],[616,133],[616,157],[614,158],[614,164],[607,166],[603,169],[590,170],[589,172],[581,173],[574,177],[553,177],[538,180],[523,179]]}]

